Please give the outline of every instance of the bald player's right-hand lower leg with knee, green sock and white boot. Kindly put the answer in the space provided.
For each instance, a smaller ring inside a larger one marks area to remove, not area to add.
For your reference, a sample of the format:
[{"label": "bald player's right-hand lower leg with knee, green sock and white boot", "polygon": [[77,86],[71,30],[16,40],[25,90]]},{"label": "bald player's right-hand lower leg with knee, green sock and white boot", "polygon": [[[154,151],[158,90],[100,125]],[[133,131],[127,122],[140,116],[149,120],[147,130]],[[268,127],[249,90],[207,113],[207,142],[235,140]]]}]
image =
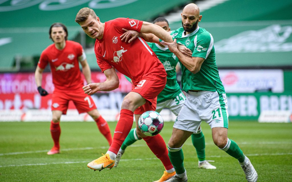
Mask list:
[{"label": "bald player's right-hand lower leg with knee, green sock and white boot", "polygon": [[250,160],[243,154],[239,146],[227,137],[227,128],[212,128],[212,137],[214,144],[217,145],[219,149],[238,160],[248,182],[258,181],[258,173],[254,169]]}]

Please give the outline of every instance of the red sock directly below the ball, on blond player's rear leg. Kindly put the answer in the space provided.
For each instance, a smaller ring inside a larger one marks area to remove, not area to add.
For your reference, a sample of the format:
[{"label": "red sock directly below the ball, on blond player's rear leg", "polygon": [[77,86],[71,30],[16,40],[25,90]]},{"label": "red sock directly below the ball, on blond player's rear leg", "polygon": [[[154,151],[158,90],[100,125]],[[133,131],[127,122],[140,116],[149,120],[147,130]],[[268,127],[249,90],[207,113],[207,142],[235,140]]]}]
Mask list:
[{"label": "red sock directly below the ball, on blond player's rear leg", "polygon": [[166,170],[173,168],[173,165],[171,164],[168,157],[166,144],[160,134],[152,137],[145,137],[143,140],[147,143],[148,147],[154,153],[154,155],[161,160]]}]

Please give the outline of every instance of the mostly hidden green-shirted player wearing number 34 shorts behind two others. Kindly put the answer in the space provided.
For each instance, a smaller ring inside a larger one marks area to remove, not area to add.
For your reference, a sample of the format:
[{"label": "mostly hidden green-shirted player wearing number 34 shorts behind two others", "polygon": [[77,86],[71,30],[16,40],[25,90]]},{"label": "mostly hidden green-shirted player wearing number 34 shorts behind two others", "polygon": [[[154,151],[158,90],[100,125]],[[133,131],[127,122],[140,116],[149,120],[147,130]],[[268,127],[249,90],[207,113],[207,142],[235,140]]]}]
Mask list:
[{"label": "mostly hidden green-shirted player wearing number 34 shorts behind two others", "polygon": [[[170,31],[168,21],[163,17],[155,19],[153,21],[153,24],[157,24],[164,30]],[[177,116],[178,113],[180,112],[182,104],[185,102],[185,95],[181,91],[180,86],[176,80],[176,69],[179,69],[178,68],[179,66],[177,66],[179,60],[170,50],[168,50],[167,47],[165,47],[162,44],[148,43],[148,45],[157,55],[161,63],[164,65],[164,68],[167,73],[166,86],[163,89],[163,91],[161,91],[161,93],[159,93],[159,95],[157,96],[156,111],[161,112],[162,109],[168,108],[171,110],[171,112],[173,112],[173,114]],[[131,79],[129,81],[131,81]],[[136,128],[133,128],[130,131],[129,135],[126,137],[121,148],[119,149],[119,153],[117,154],[114,167],[117,167],[117,165],[119,164],[119,160],[121,159],[121,156],[123,155],[126,147],[140,139],[142,138],[136,133]],[[203,132],[201,131],[201,127],[199,127],[197,133],[194,132],[192,134],[192,143],[197,151],[197,156],[199,159],[198,162],[199,168],[216,169],[215,166],[211,165],[206,160],[205,137],[203,135]]]}]

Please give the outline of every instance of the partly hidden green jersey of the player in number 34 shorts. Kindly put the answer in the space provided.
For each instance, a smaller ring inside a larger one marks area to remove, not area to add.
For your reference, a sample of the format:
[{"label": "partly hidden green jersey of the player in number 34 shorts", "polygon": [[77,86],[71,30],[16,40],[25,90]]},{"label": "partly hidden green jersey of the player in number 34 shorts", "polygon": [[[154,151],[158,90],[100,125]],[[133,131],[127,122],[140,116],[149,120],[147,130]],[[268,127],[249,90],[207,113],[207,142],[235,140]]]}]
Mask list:
[{"label": "partly hidden green jersey of the player in number 34 shorts", "polygon": [[166,86],[157,96],[157,103],[173,99],[181,92],[180,86],[176,80],[175,72],[175,66],[178,63],[178,58],[170,52],[167,47],[161,47],[156,43],[148,43],[148,45],[157,55],[167,73]]}]

